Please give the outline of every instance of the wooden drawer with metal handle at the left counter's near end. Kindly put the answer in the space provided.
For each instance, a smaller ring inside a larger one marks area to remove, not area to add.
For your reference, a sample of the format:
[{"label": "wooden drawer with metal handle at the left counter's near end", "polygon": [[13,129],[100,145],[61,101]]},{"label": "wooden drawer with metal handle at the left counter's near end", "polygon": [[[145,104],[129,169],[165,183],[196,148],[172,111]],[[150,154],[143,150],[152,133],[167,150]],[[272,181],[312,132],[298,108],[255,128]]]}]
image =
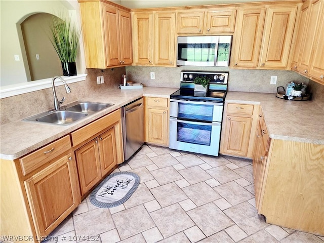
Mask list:
[{"label": "wooden drawer with metal handle at the left counter's near end", "polygon": [[49,145],[19,159],[22,174],[25,176],[33,170],[51,161],[56,156],[71,148],[70,137],[65,136]]}]

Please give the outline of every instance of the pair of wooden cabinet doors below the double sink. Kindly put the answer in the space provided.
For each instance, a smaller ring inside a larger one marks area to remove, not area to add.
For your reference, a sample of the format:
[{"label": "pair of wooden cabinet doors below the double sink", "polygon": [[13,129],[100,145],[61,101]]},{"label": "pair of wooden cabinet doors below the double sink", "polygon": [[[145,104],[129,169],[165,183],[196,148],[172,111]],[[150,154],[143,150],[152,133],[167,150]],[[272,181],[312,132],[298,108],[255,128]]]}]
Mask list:
[{"label": "pair of wooden cabinet doors below the double sink", "polygon": [[117,165],[114,127],[75,150],[82,196]]}]

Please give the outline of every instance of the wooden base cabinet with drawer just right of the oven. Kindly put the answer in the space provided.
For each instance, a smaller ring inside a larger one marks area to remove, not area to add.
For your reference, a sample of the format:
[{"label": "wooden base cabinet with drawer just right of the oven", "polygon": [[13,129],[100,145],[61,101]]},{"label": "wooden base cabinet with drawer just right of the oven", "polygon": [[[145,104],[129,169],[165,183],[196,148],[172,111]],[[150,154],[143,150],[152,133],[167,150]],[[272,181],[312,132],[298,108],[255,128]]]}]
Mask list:
[{"label": "wooden base cabinet with drawer just right of the oven", "polygon": [[222,154],[252,158],[257,110],[258,105],[225,104],[220,149]]}]

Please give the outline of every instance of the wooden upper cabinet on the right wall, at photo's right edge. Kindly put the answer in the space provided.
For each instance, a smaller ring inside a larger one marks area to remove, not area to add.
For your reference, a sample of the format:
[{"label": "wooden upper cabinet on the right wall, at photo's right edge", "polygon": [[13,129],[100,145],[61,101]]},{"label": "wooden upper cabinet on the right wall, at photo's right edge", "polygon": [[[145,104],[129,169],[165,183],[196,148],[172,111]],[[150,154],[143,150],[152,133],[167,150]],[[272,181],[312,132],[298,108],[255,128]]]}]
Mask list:
[{"label": "wooden upper cabinet on the right wall, at photo's right edge", "polygon": [[306,1],[301,10],[292,70],[324,83],[324,1]]}]

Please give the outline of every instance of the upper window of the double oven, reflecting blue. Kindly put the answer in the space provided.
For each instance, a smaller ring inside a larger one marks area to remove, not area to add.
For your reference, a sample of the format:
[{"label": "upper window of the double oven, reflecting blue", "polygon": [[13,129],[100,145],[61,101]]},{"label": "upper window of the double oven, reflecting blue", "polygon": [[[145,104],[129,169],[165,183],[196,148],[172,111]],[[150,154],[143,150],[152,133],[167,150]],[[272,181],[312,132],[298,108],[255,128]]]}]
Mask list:
[{"label": "upper window of the double oven, reflecting blue", "polygon": [[213,121],[213,105],[178,103],[178,118]]}]

